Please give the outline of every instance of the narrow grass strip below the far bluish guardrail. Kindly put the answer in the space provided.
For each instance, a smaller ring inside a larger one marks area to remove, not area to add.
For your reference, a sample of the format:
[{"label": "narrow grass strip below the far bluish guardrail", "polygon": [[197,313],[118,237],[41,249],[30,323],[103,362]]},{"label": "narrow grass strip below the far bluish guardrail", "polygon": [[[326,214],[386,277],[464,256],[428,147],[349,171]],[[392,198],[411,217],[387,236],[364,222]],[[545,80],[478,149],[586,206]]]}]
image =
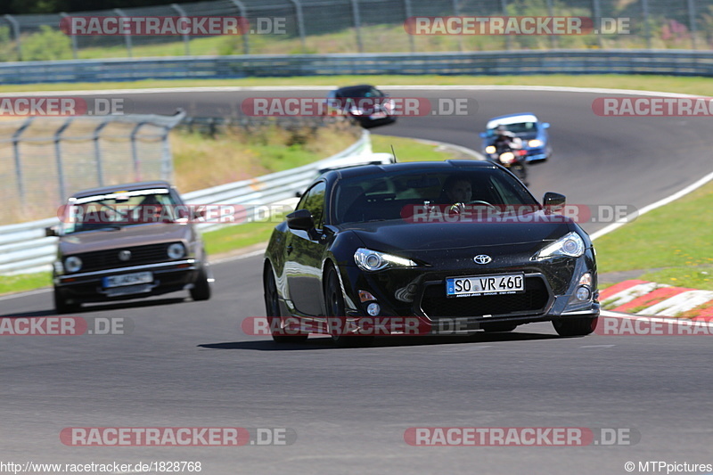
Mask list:
[{"label": "narrow grass strip below the far bluish guardrail", "polygon": [[99,89],[141,89],[153,87],[198,86],[345,86],[371,83],[379,86],[418,85],[508,85],[508,86],[577,86],[668,91],[683,94],[710,95],[710,78],[676,78],[637,75],[539,75],[539,76],[305,76],[298,78],[242,79],[176,79],[104,83],[52,83],[0,86],[0,93],[76,91]]}]

